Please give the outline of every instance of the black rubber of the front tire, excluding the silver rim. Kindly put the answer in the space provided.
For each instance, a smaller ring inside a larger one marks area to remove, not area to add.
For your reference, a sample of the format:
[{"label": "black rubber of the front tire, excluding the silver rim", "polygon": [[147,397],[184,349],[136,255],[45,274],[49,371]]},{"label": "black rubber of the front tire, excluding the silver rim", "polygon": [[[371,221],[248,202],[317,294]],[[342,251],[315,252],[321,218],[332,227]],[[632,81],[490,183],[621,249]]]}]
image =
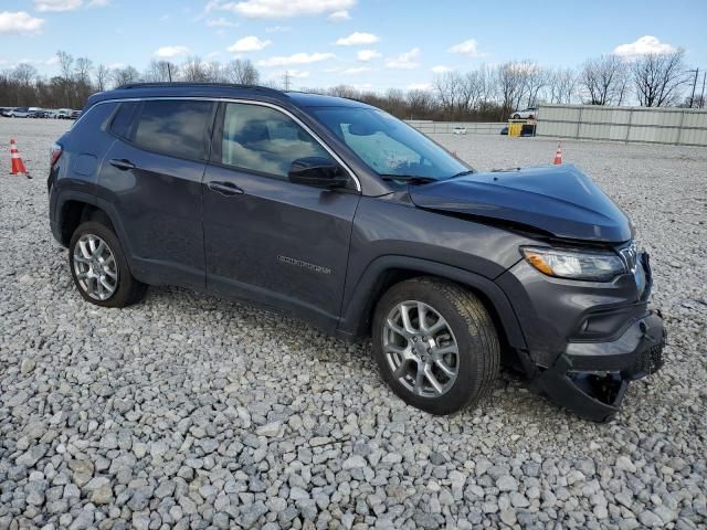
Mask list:
[{"label": "black rubber of the front tire, excluding the silver rim", "polygon": [[[456,339],[456,379],[450,381],[451,386],[442,395],[414,393],[394,377],[384,352],[384,324],[390,312],[407,300],[433,308],[446,320]],[[498,335],[484,304],[458,284],[431,277],[401,282],[381,297],[373,315],[372,349],[381,375],[393,392],[405,403],[439,415],[475,406],[493,386],[500,365]]]}]

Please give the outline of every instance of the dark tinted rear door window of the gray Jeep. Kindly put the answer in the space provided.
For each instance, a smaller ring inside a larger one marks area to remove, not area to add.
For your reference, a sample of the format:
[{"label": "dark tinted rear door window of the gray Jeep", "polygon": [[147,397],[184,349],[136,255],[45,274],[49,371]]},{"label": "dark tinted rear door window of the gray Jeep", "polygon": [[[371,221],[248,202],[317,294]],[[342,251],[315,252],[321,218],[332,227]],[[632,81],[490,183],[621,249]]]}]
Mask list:
[{"label": "dark tinted rear door window of the gray Jeep", "polygon": [[211,106],[210,102],[144,102],[134,141],[151,151],[203,159]]}]

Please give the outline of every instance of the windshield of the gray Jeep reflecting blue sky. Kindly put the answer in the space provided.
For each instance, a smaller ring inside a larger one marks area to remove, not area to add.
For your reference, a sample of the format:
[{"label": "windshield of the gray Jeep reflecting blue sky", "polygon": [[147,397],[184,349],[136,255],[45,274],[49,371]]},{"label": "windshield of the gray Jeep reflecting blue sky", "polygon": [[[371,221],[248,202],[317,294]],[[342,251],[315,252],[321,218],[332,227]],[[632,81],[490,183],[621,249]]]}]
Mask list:
[{"label": "windshield of the gray Jeep reflecting blue sky", "polygon": [[471,170],[426,136],[382,110],[316,107],[312,112],[378,174],[444,180]]}]

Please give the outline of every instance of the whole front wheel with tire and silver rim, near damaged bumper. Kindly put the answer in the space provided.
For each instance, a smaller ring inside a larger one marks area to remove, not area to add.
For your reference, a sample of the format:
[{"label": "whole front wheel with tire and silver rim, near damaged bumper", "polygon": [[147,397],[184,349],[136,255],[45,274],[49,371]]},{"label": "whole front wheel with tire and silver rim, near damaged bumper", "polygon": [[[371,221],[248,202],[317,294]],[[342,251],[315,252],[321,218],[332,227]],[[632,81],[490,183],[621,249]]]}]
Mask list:
[{"label": "whole front wheel with tire and silver rim, near damaged bumper", "polygon": [[373,316],[373,356],[405,403],[432,414],[475,405],[498,374],[500,348],[484,304],[436,278],[394,285]]}]

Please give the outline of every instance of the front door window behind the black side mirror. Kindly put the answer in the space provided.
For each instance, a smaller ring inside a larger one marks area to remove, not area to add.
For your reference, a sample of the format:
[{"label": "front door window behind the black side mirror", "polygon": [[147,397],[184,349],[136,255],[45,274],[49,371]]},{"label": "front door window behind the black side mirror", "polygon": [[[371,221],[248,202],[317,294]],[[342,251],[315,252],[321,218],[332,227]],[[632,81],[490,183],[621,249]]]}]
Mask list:
[{"label": "front door window behind the black side mirror", "polygon": [[331,158],[305,129],[274,108],[229,103],[223,116],[221,162],[287,178],[298,158]]}]

